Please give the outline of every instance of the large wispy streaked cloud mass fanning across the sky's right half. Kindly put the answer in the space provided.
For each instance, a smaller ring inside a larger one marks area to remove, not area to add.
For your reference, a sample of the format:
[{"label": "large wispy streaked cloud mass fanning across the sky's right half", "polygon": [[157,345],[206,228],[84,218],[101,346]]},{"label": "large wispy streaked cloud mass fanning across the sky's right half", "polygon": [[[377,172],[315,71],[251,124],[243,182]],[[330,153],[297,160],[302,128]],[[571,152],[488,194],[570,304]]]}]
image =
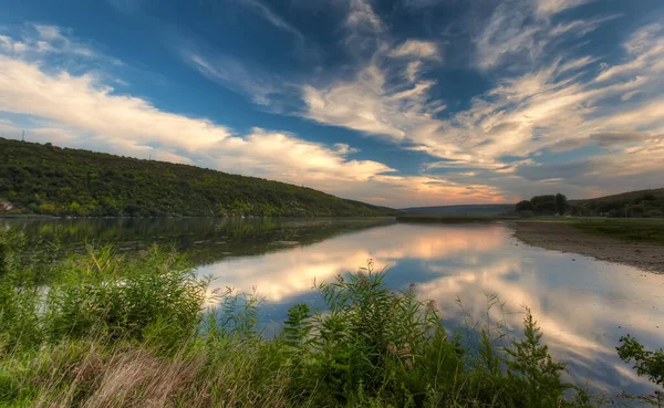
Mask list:
[{"label": "large wispy streaked cloud mass fanning across the sky's right half", "polygon": [[[571,3],[560,4],[571,7]],[[656,157],[661,150],[660,142],[634,135],[663,134],[664,95],[657,91],[664,86],[661,75],[664,54],[660,57],[664,50],[662,28],[653,24],[636,30],[623,44],[626,61],[596,75],[600,56],[570,54],[547,44],[557,44],[560,36],[585,35],[619,15],[575,20],[562,29],[563,25],[552,27],[549,21],[532,20],[536,11],[513,11],[499,6],[488,25],[475,36],[479,54],[484,55],[484,67],[496,69],[509,61],[506,59],[510,54],[516,57],[522,53],[528,54],[528,64],[522,70],[511,66],[513,71],[501,72],[501,79],[474,97],[466,109],[440,115],[446,106],[445,90],[424,79],[426,53],[405,52],[422,50],[405,48],[406,40],[397,46],[378,48],[355,77],[302,86],[307,106],[302,115],[382,137],[404,149],[426,153],[440,161],[424,166],[425,174],[454,172],[459,182],[469,182],[471,178],[478,186],[497,187],[504,197],[532,190],[537,187],[533,182],[540,180],[554,180],[562,184],[561,188],[583,195],[582,189],[592,188],[595,177],[595,186],[605,189],[611,185],[608,175],[616,172],[611,171],[611,166],[618,166],[622,175],[614,179],[612,190],[631,188],[640,168],[633,158]],[[530,29],[520,30],[523,27]],[[543,39],[544,45],[535,44],[538,39]],[[544,50],[547,57],[537,57]],[[385,57],[396,54],[412,55],[415,60],[387,63]],[[639,98],[632,98],[636,94]],[[615,100],[623,103],[616,104]],[[611,150],[590,153],[590,157],[598,157],[583,166],[573,163],[558,168],[537,164],[542,153],[556,154],[589,145]],[[507,161],[508,156],[520,160]],[[652,160],[641,165],[643,182],[652,187],[651,172],[657,169],[664,170],[664,165]],[[470,174],[474,176],[468,177]]]}]

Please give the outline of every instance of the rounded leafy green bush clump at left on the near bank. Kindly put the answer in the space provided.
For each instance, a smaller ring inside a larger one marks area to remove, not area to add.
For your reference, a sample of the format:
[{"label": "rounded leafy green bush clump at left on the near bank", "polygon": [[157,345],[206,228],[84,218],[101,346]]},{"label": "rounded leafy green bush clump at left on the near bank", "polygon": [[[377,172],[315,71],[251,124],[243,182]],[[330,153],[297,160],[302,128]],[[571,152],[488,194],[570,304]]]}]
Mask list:
[{"label": "rounded leafy green bush clump at left on the near bank", "polygon": [[[198,327],[207,282],[173,249],[157,247],[135,259],[111,247],[89,248],[63,265],[46,296],[46,333],[59,339],[103,333],[112,339],[142,339],[146,329],[167,322],[177,343]],[[153,327],[155,326],[155,327]]]}]

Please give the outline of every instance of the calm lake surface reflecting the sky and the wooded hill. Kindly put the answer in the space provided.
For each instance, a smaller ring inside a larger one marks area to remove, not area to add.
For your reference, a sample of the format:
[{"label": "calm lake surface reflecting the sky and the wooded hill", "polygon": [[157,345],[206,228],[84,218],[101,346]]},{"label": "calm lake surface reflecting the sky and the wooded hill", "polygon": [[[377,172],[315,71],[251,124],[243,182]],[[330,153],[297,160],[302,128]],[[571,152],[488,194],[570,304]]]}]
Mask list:
[{"label": "calm lake surface reflecting the sky and the wooded hill", "polygon": [[[8,222],[8,221],[4,221]],[[25,221],[12,221],[25,223]],[[491,318],[505,318],[518,335],[522,305],[532,310],[558,359],[570,376],[598,391],[650,393],[655,389],[622,363],[621,335],[649,347],[664,344],[664,275],[528,247],[501,224],[413,226],[391,220],[69,220],[30,221],[29,233],[51,233],[82,248],[85,240],[114,241],[125,251],[152,243],[175,243],[191,253],[200,275],[214,285],[253,287],[266,299],[262,318],[276,325],[290,305],[322,307],[314,279],[331,280],[373,259],[387,266],[387,283],[415,283],[423,299],[435,300],[450,329],[461,329],[464,313],[486,320],[487,294],[505,302]]]}]

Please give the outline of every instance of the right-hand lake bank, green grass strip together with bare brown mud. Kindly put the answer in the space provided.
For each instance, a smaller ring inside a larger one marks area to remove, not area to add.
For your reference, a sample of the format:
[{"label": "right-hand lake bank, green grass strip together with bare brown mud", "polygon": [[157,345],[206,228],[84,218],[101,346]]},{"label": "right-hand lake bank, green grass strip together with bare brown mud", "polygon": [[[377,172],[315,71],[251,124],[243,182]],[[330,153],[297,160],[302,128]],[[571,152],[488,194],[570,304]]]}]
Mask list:
[{"label": "right-hand lake bank, green grass strip together with bare brown mud", "polygon": [[649,220],[510,221],[513,236],[548,250],[578,253],[600,261],[664,273],[664,222]]}]

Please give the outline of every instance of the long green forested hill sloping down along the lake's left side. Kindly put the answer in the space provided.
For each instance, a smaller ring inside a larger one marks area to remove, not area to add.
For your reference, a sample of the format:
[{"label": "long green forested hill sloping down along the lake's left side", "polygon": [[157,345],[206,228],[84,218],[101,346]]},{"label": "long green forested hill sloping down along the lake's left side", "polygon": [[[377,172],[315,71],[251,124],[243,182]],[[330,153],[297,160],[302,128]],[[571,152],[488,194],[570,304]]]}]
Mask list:
[{"label": "long green forested hill sloping down along the lake's left side", "polygon": [[0,138],[0,212],[53,216],[386,216],[311,188]]}]

